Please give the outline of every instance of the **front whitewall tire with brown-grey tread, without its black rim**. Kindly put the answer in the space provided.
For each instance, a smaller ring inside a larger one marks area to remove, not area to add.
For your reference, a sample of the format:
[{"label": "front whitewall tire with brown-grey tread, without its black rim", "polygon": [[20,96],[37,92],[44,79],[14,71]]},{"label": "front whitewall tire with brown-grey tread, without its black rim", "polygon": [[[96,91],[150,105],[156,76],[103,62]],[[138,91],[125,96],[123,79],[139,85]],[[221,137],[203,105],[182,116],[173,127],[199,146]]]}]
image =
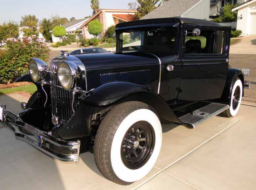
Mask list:
[{"label": "front whitewall tire with brown-grey tread, without its black rim", "polygon": [[[133,124],[147,122],[154,133],[151,156],[137,169],[126,167],[121,147],[124,136]],[[153,168],[162,145],[162,126],[155,110],[141,102],[126,102],[115,106],[104,118],[96,135],[94,158],[100,172],[111,181],[129,185],[140,180]]]}]

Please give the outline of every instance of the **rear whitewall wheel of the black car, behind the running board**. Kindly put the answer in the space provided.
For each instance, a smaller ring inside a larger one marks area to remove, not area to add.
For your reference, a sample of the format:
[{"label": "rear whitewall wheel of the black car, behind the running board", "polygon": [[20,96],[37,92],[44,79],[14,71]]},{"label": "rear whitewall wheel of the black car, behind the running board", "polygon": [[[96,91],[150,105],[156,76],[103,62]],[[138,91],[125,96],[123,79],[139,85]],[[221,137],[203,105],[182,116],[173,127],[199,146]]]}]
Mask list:
[{"label": "rear whitewall wheel of the black car, behind the running board", "polygon": [[229,109],[221,113],[223,117],[233,117],[237,114],[242,102],[242,94],[243,85],[241,80],[237,78],[232,87]]}]

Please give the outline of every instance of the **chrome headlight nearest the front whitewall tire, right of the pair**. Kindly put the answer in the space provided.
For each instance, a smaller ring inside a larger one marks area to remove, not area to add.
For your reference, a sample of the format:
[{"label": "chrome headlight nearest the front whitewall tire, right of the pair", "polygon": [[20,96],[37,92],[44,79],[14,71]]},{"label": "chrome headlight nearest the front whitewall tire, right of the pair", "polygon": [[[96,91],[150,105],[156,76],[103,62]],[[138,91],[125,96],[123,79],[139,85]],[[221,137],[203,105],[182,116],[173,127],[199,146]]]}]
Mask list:
[{"label": "chrome headlight nearest the front whitewall tire, right of the pair", "polygon": [[82,78],[81,69],[75,63],[70,61],[60,62],[57,74],[60,85],[65,90],[71,90],[75,88]]}]

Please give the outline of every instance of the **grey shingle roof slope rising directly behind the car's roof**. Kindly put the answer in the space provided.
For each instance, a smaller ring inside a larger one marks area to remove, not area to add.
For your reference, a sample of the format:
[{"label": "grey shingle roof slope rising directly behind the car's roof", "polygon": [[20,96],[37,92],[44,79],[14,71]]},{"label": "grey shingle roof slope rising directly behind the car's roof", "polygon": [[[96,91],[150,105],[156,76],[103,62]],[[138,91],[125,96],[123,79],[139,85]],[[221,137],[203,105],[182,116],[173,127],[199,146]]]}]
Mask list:
[{"label": "grey shingle roof slope rising directly behind the car's roof", "polygon": [[178,17],[201,0],[169,0],[141,19]]}]

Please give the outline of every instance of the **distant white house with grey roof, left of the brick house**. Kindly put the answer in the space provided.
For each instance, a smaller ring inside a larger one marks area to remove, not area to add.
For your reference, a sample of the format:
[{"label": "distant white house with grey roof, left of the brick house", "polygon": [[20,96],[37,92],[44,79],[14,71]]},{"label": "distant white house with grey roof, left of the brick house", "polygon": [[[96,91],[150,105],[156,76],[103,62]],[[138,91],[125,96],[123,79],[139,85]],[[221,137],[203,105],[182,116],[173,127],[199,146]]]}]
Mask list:
[{"label": "distant white house with grey roof, left of the brick house", "polygon": [[[75,34],[75,31],[76,30],[81,30],[80,29],[81,25],[84,24],[87,20],[89,20],[89,18],[87,18],[87,19],[77,19],[77,20],[70,21],[69,23],[63,24],[62,26],[64,28],[66,28],[66,34]],[[52,33],[52,30],[50,31],[50,33]],[[81,36],[82,36],[82,34],[81,34]],[[60,38],[55,37],[52,33],[52,41],[54,43],[60,42]]]}]

